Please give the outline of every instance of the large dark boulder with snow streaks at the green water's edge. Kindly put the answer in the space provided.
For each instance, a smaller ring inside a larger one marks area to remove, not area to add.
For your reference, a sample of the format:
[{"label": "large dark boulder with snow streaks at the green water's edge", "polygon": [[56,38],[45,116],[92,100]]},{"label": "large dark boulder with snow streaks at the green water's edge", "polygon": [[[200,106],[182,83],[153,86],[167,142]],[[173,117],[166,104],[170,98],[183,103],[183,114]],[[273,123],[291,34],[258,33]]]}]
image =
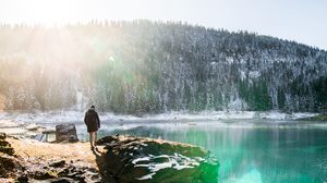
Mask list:
[{"label": "large dark boulder with snow streaks at the green water's edge", "polygon": [[186,144],[134,136],[106,136],[98,166],[104,180],[117,182],[217,182],[218,161]]}]

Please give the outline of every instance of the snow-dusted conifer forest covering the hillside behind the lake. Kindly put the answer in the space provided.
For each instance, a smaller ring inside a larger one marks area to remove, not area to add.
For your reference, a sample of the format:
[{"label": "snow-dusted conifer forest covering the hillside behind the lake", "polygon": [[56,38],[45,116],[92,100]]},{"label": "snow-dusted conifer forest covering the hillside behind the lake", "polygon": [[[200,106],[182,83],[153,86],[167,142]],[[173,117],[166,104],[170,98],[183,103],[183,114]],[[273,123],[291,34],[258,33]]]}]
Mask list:
[{"label": "snow-dusted conifer forest covering the hillside behind the lake", "polygon": [[0,108],[324,111],[327,52],[182,23],[0,26]]}]

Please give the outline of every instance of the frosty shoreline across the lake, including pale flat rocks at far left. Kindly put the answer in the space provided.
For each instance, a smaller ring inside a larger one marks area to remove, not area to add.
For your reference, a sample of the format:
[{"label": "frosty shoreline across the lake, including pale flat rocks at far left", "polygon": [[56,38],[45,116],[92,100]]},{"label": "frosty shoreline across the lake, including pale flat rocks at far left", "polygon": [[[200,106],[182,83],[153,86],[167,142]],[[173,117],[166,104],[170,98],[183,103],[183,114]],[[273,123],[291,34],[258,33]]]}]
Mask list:
[{"label": "frosty shoreline across the lake, including pale flat rocks at far left", "polygon": [[[0,132],[7,133],[8,135],[16,137],[27,137],[38,139],[43,132],[45,131],[55,131],[55,126],[58,124],[68,124],[72,123],[76,126],[80,126],[80,133],[77,132],[78,138],[80,135],[85,135],[85,126],[83,125],[84,112],[78,111],[65,111],[65,112],[47,112],[47,113],[20,113],[20,112],[0,112]],[[201,122],[206,121],[210,123],[220,124],[221,127],[227,125],[228,127],[258,127],[261,125],[292,125],[292,122],[299,122],[303,124],[311,124],[311,122],[318,122],[319,125],[327,122],[326,115],[320,115],[317,113],[293,113],[286,114],[275,111],[269,112],[203,112],[203,113],[162,113],[157,115],[147,115],[143,118],[131,118],[126,115],[122,118],[121,115],[114,115],[112,113],[102,113],[100,114],[104,127],[100,130],[106,130],[106,126],[110,129],[123,129],[128,130],[131,127],[137,127],[138,125],[147,124],[165,124],[172,125],[177,124],[190,124],[190,125],[201,125]],[[237,121],[246,121],[250,123],[238,123]],[[251,121],[253,121],[251,123]],[[237,122],[237,123],[235,123]],[[264,123],[262,123],[264,122]],[[307,122],[307,123],[306,123]],[[113,125],[113,126],[112,126]],[[87,134],[86,134],[87,135]],[[53,139],[50,137],[49,142]],[[85,137],[80,138],[82,142],[85,141]]]}]

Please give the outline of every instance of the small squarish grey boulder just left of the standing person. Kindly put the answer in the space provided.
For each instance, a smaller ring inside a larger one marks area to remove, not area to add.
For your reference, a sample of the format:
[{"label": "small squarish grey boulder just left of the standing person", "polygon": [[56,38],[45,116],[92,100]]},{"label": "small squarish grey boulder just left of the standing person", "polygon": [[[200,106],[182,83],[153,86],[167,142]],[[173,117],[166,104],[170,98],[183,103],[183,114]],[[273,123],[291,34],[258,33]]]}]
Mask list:
[{"label": "small squarish grey boulder just left of the standing person", "polygon": [[77,142],[76,127],[74,124],[60,124],[56,126],[56,141],[61,142]]}]

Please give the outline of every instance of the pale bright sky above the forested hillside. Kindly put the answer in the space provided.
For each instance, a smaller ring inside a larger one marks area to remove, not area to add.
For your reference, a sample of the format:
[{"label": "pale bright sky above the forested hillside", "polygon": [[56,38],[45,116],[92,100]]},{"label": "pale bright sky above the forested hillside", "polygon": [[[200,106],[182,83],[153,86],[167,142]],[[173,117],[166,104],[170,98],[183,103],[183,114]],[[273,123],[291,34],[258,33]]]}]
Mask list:
[{"label": "pale bright sky above the forested hillside", "polygon": [[327,0],[0,0],[0,22],[182,21],[245,29],[327,50]]}]

